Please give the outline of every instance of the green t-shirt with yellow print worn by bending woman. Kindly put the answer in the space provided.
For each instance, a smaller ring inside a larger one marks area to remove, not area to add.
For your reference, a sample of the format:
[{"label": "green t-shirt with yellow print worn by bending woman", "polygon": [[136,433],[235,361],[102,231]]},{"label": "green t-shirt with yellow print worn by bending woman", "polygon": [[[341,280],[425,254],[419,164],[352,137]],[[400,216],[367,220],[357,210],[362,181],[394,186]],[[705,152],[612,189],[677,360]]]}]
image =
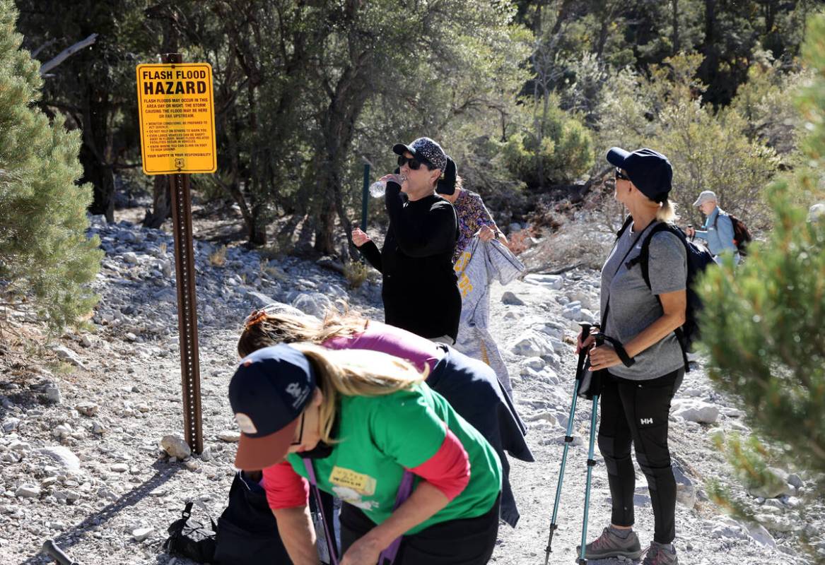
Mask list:
[{"label": "green t-shirt with yellow print worn by bending woman", "polygon": [[[331,455],[313,460],[318,488],[361,508],[380,524],[393,511],[404,469],[421,465],[441,448],[444,423],[469,455],[469,483],[446,507],[407,534],[483,515],[501,491],[502,464],[488,441],[425,383],[386,396],[342,396],[339,441]],[[299,454],[290,454],[287,460],[308,478]]]}]

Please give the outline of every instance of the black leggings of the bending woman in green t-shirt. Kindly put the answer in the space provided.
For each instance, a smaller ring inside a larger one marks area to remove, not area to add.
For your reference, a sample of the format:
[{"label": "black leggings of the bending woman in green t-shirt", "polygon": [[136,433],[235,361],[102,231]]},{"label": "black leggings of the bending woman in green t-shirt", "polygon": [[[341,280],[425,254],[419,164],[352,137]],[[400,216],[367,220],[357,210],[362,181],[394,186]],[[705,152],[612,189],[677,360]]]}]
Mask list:
[{"label": "black leggings of the bending woman in green t-shirt", "polygon": [[[486,514],[431,525],[417,534],[405,535],[393,565],[484,565],[493,556],[498,535],[501,496]],[[341,507],[342,554],[375,528],[359,508],[344,502]],[[378,565],[386,565],[379,563]]]}]

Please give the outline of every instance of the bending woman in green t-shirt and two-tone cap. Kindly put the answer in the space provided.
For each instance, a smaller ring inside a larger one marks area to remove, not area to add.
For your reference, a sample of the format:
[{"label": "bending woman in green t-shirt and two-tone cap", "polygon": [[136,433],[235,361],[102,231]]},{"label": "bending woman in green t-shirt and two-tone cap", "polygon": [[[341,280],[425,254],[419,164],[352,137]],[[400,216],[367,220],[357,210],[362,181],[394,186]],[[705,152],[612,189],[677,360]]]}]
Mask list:
[{"label": "bending woman in green t-shirt and two-tone cap", "polygon": [[[396,565],[488,563],[501,464],[423,380],[384,353],[308,343],[243,358],[229,383],[241,429],[235,466],[263,469],[293,563],[318,563],[308,480],[347,502],[341,565],[377,563],[402,535]],[[413,490],[399,497],[408,479]]]}]

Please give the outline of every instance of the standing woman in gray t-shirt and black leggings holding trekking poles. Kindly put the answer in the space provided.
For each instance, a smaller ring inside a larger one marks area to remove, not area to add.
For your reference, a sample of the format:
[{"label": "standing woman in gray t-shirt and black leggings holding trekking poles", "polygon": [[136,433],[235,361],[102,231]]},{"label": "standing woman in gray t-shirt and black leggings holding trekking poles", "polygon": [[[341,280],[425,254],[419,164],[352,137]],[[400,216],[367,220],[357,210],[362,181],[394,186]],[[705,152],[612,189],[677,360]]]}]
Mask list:
[{"label": "standing woman in gray t-shirt and black leggings holding trekking poles", "polygon": [[[650,149],[632,153],[613,147],[607,161],[616,167],[615,199],[628,209],[632,223],[616,240],[601,269],[601,331],[622,346],[623,362],[610,343],[592,348],[593,370],[606,369],[601,390],[599,450],[610,483],[610,526],[587,544],[587,559],[643,554],[634,525],[635,474],[630,445],[648,479],[655,530],[644,565],[677,563],[676,481],[667,447],[667,415],[685,373],[681,347],[673,333],[686,320],[687,255],[685,245],[668,230],[649,242],[648,274],[633,264],[643,238],[662,222],[672,222],[672,167]],[[675,228],[674,226],[674,229]],[[629,264],[632,265],[629,267]],[[580,347],[582,336],[579,336]],[[584,346],[592,343],[587,338]]]}]

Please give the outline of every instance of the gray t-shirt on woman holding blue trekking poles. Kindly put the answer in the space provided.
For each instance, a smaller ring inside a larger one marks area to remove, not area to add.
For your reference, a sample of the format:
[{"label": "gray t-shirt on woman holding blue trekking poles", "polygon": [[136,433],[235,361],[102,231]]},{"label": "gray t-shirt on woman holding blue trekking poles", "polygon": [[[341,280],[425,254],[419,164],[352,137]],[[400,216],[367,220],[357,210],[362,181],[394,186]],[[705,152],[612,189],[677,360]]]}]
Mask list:
[{"label": "gray t-shirt on woman holding blue trekking poles", "polygon": [[[677,236],[667,231],[659,231],[650,240],[648,274],[650,288],[644,283],[642,265],[634,264],[628,270],[630,259],[638,257],[642,242],[658,222],[651,222],[639,239],[633,231],[633,224],[625,230],[601,268],[601,311],[604,312],[610,299],[610,309],[603,328],[605,334],[628,343],[643,329],[662,316],[662,305],[656,295],[665,292],[685,290],[687,279],[687,253]],[[630,249],[630,245],[634,249]],[[627,257],[625,258],[625,254]],[[619,262],[623,259],[624,262]],[[669,334],[634,357],[633,367],[616,365],[608,371],[633,381],[647,381],[667,375],[684,367],[681,347],[676,334]]]}]

